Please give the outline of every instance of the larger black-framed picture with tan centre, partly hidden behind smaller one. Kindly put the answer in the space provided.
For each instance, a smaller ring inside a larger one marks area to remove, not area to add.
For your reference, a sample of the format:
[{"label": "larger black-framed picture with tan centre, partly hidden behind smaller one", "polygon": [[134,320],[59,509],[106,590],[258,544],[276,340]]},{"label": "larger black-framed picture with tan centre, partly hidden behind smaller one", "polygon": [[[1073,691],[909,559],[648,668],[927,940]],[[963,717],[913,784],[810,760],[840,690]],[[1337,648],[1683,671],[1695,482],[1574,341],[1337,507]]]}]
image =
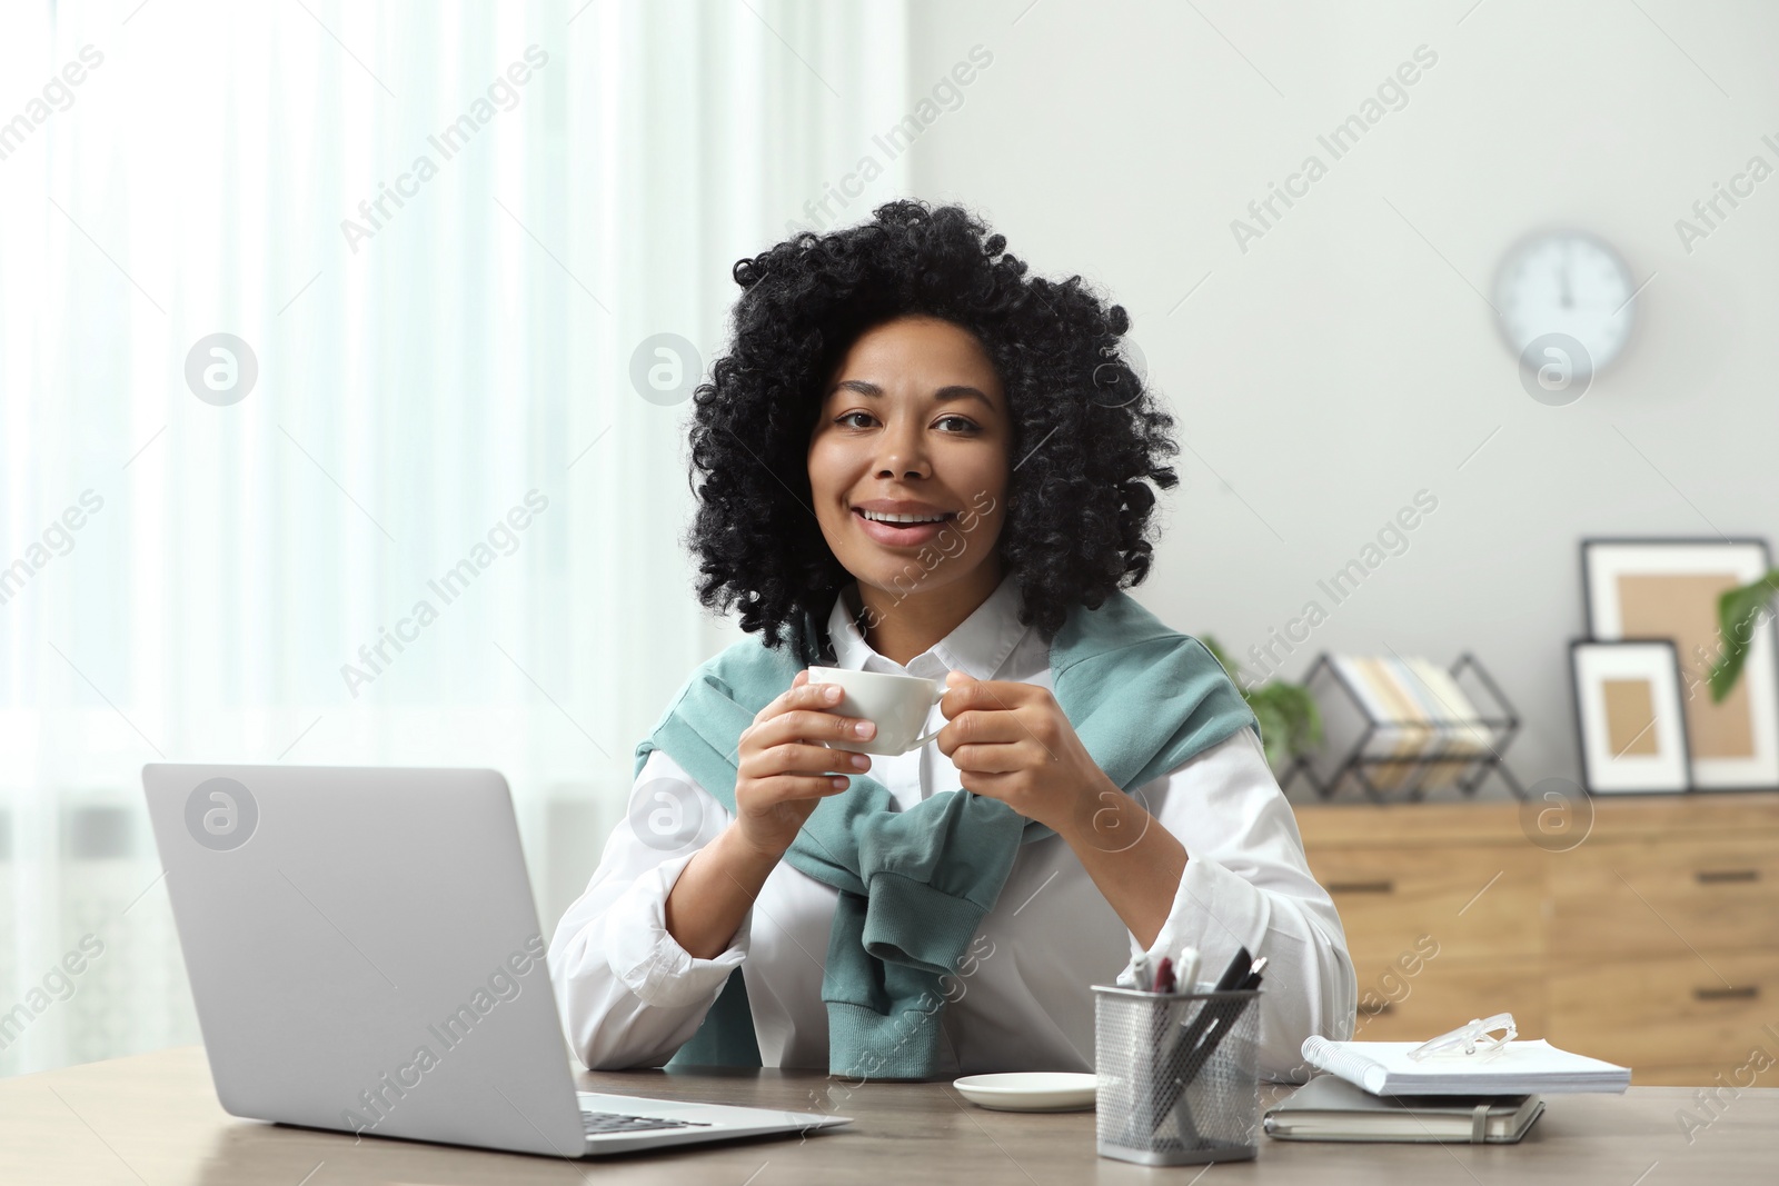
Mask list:
[{"label": "larger black-framed picture with tan centre, partly hidden behind smaller one", "polygon": [[1759,539],[1589,539],[1582,581],[1589,633],[1601,642],[1667,638],[1679,663],[1681,709],[1701,791],[1779,786],[1779,660],[1774,624],[1749,645],[1742,679],[1711,701],[1711,665],[1722,651],[1717,599],[1767,574]]}]

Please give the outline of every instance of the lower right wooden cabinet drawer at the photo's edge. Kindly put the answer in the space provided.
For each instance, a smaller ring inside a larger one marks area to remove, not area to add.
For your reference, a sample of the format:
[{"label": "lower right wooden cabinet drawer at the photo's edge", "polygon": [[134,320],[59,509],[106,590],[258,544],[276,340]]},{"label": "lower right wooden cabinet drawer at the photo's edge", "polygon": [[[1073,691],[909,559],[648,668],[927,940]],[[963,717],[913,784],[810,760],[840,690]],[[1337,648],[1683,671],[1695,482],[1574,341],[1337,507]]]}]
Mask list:
[{"label": "lower right wooden cabinet drawer at the photo's edge", "polygon": [[1550,1040],[1631,1069],[1733,1070],[1758,1046],[1779,1058],[1775,1003],[1779,955],[1701,950],[1598,964],[1551,974]]}]

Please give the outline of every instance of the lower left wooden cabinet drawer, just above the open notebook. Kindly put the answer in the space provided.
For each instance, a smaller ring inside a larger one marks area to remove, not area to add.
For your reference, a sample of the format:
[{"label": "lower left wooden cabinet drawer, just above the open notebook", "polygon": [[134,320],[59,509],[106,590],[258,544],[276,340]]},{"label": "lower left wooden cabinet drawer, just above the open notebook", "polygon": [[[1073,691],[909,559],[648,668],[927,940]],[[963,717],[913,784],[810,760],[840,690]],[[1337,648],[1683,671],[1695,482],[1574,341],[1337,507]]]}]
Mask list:
[{"label": "lower left wooden cabinet drawer, just above the open notebook", "polygon": [[1354,971],[1359,974],[1356,1040],[1425,1042],[1471,1017],[1503,1010],[1514,1015],[1519,1033],[1544,1035],[1544,971],[1537,960],[1477,964],[1452,958],[1441,948],[1414,976],[1397,966],[1381,971],[1357,960]]}]

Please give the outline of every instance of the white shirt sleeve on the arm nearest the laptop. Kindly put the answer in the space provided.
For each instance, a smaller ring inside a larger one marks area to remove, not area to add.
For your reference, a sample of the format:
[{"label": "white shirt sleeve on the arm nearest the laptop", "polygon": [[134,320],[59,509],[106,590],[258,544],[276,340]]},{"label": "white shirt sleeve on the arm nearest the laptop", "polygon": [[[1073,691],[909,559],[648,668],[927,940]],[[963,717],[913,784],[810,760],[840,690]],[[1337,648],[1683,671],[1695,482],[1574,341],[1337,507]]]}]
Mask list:
[{"label": "white shirt sleeve on the arm nearest the laptop", "polygon": [[[550,980],[569,1046],[592,1070],[656,1067],[697,1031],[747,958],[753,910],[715,958],[667,932],[667,894],[729,813],[662,750],[637,775],[633,809],[612,830],[587,891],[550,941]],[[635,820],[644,820],[637,834]],[[656,834],[649,821],[660,820]]]}]

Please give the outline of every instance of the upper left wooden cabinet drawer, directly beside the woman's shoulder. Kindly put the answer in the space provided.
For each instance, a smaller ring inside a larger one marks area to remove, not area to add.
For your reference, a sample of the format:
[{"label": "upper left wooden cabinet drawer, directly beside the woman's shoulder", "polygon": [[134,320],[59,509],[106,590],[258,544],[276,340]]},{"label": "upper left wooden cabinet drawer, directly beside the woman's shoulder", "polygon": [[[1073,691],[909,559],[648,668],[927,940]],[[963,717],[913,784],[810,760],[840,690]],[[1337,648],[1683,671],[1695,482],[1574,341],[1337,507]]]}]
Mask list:
[{"label": "upper left wooden cabinet drawer, directly beside the woman's shoulder", "polygon": [[1461,960],[1544,950],[1546,853],[1530,845],[1340,846],[1308,857],[1334,898],[1356,966],[1389,964],[1421,935]]}]

